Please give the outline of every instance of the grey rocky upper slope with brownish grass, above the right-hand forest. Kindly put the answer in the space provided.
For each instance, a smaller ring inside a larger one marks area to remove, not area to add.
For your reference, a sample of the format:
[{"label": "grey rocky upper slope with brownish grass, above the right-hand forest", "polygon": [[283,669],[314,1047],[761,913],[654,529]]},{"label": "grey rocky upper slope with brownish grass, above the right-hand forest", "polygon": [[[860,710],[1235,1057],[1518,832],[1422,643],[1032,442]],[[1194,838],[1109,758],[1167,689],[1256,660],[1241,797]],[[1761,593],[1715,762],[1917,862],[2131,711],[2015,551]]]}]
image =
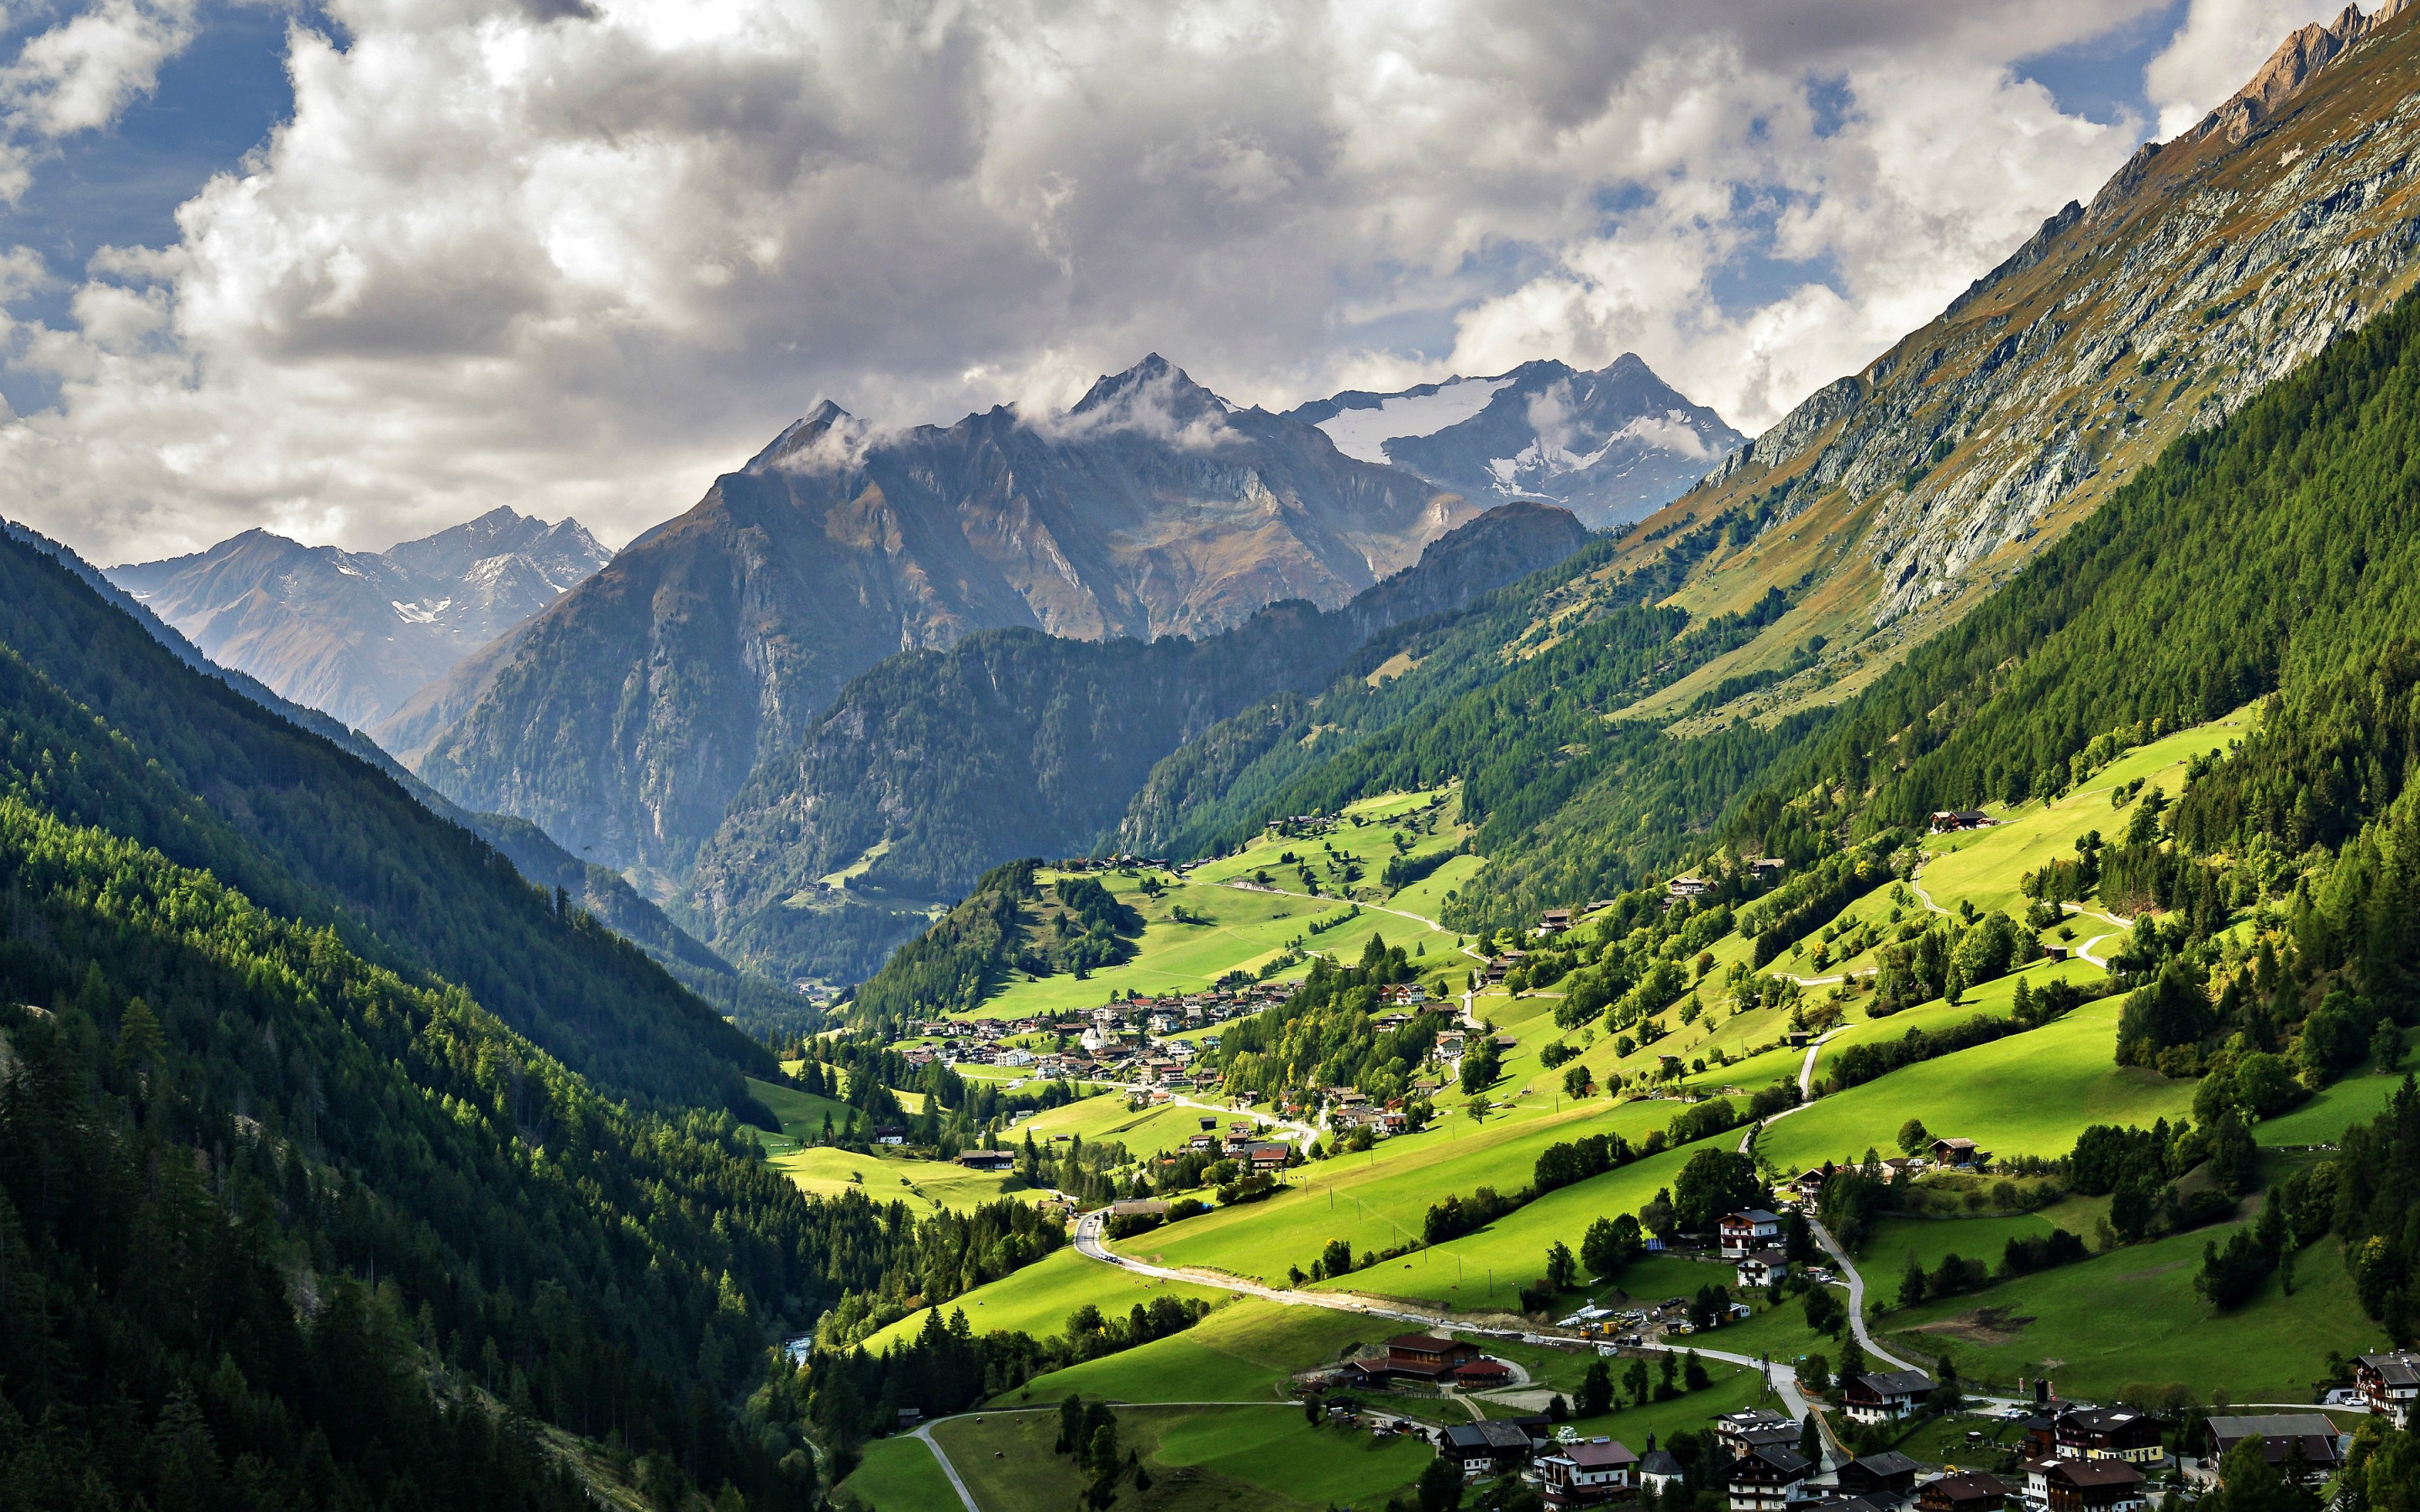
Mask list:
[{"label": "grey rocky upper slope with brownish grass, above the right-hand forest", "polygon": [[1951,310],[1740,448],[1672,513],[1871,508],[1888,622],[1999,571],[2420,271],[2410,2],[2297,31]]}]

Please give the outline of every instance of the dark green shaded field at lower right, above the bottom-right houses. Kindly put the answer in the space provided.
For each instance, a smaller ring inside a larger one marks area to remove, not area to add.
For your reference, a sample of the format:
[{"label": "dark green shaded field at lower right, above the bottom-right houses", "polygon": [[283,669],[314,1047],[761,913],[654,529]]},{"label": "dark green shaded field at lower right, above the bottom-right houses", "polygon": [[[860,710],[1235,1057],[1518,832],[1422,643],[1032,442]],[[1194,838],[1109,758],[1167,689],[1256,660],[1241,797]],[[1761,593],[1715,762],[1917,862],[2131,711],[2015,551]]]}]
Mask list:
[{"label": "dark green shaded field at lower right, above the bottom-right houses", "polygon": [[[2193,1289],[2205,1243],[2234,1224],[2045,1270],[1984,1292],[1929,1302],[1876,1323],[1888,1347],[1948,1355],[1958,1374],[2011,1389],[2047,1374],[2059,1393],[2115,1401],[2134,1381],[2224,1384],[2236,1401],[2311,1401],[2330,1350],[2379,1347],[2333,1241],[2297,1256],[2294,1292],[2270,1275],[2243,1306],[2212,1314]],[[1876,1277],[1868,1275],[1868,1285]]]}]

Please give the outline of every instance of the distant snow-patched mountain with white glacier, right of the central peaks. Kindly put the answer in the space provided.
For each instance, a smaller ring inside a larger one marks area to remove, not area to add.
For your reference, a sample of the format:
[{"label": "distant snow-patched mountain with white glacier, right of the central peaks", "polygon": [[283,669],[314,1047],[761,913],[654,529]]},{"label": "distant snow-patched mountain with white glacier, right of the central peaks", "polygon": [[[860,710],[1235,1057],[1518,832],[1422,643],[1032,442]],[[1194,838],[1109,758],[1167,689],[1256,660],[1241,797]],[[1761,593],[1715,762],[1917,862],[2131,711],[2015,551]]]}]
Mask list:
[{"label": "distant snow-patched mountain with white glacier, right of the central peaks", "polygon": [[1474,501],[1551,498],[1592,527],[1679,498],[1747,440],[1624,353],[1609,368],[1522,363],[1401,394],[1350,389],[1292,411],[1362,462],[1389,462]]}]

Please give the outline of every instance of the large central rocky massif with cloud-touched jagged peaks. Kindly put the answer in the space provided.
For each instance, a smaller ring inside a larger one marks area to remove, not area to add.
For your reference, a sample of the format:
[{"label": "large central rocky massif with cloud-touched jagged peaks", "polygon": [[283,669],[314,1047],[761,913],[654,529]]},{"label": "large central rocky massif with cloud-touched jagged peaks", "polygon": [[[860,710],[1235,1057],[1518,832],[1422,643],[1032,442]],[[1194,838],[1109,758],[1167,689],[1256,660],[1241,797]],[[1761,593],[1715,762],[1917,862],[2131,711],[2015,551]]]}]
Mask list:
[{"label": "large central rocky massif with cloud-touched jagged peaks", "polygon": [[876,435],[825,404],[375,733],[469,808],[675,871],[748,772],[886,656],[1333,607],[1476,513],[1157,356],[1048,421]]}]

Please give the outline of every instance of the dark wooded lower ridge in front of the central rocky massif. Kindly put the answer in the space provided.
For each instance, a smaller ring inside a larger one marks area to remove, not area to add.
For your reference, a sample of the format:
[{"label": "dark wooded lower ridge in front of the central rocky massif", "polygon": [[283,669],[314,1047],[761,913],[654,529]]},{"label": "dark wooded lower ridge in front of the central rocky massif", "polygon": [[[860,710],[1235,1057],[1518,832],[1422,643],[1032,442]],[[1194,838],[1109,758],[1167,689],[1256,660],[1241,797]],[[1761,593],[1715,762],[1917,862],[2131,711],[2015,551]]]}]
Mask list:
[{"label": "dark wooded lower ridge in front of the central rocky massif", "polygon": [[1290,600],[1200,641],[1004,629],[895,656],[750,774],[697,856],[690,914],[784,975],[857,975],[922,917],[871,934],[849,914],[958,898],[1012,856],[1091,849],[1191,735],[1270,692],[1312,692],[1370,636],[1583,542],[1568,510],[1508,503],[1341,610]]}]

